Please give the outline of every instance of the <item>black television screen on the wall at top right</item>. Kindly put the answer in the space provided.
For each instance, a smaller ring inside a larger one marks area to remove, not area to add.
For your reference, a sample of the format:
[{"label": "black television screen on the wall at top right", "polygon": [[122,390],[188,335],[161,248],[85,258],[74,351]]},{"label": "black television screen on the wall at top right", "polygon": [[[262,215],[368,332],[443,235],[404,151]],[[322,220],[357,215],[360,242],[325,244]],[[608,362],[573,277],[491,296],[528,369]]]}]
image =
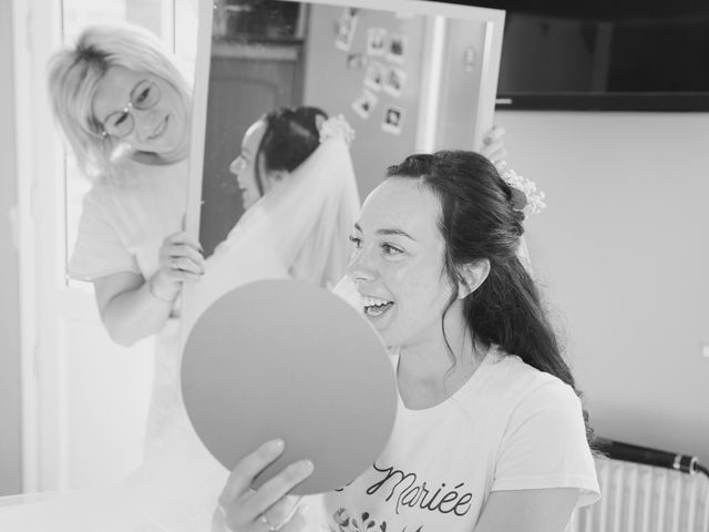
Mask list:
[{"label": "black television screen on the wall at top right", "polygon": [[497,109],[709,111],[709,16],[507,11]]}]

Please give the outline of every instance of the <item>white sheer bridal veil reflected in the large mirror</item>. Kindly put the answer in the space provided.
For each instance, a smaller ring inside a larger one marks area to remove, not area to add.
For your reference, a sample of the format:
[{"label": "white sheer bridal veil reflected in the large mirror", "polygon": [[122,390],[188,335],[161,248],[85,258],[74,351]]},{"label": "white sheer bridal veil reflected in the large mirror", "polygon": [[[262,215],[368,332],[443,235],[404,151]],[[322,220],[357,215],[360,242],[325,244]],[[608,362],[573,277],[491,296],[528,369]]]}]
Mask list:
[{"label": "white sheer bridal veil reflected in the large mirror", "polygon": [[348,235],[359,208],[346,140],[326,136],[217,246],[204,278],[194,286],[187,319],[196,319],[226,291],[257,279],[294,278],[331,288],[345,274]]}]

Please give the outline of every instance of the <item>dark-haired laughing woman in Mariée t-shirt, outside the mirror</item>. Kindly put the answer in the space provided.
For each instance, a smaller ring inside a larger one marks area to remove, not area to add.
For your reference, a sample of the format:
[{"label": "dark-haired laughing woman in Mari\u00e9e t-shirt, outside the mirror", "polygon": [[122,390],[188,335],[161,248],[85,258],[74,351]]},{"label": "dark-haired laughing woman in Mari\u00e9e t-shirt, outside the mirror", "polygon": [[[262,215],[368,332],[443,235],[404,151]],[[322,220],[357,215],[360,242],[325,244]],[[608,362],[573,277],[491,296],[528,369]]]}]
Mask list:
[{"label": "dark-haired laughing woman in Mari\u00e9e t-shirt, outside the mirror", "polygon": [[282,451],[266,443],[222,493],[226,530],[562,532],[598,499],[574,378],[518,258],[518,192],[473,152],[389,168],[352,229],[348,277],[395,364],[392,436],[311,515],[284,498],[306,460],[248,490]]}]

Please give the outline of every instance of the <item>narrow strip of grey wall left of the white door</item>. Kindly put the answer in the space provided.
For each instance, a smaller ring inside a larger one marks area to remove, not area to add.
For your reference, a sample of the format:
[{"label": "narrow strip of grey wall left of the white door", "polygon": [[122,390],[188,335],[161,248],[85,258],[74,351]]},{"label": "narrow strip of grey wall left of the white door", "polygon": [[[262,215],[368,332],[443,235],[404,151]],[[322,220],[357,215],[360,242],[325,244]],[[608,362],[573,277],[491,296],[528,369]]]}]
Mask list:
[{"label": "narrow strip of grey wall left of the white door", "polygon": [[20,284],[10,209],[17,202],[12,2],[0,2],[0,495],[20,492]]}]

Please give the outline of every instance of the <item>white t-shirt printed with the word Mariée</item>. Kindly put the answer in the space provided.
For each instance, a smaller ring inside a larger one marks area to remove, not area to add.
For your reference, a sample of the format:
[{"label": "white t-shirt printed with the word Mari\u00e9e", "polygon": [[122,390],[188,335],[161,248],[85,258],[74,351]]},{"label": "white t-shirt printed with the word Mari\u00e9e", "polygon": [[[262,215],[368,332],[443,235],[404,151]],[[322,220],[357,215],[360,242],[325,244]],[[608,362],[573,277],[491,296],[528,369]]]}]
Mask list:
[{"label": "white t-shirt printed with the word Mari\u00e9e", "polygon": [[580,401],[556,377],[491,349],[435,407],[399,400],[392,436],[361,477],[322,495],[323,530],[471,532],[491,491],[578,488],[599,498]]}]

